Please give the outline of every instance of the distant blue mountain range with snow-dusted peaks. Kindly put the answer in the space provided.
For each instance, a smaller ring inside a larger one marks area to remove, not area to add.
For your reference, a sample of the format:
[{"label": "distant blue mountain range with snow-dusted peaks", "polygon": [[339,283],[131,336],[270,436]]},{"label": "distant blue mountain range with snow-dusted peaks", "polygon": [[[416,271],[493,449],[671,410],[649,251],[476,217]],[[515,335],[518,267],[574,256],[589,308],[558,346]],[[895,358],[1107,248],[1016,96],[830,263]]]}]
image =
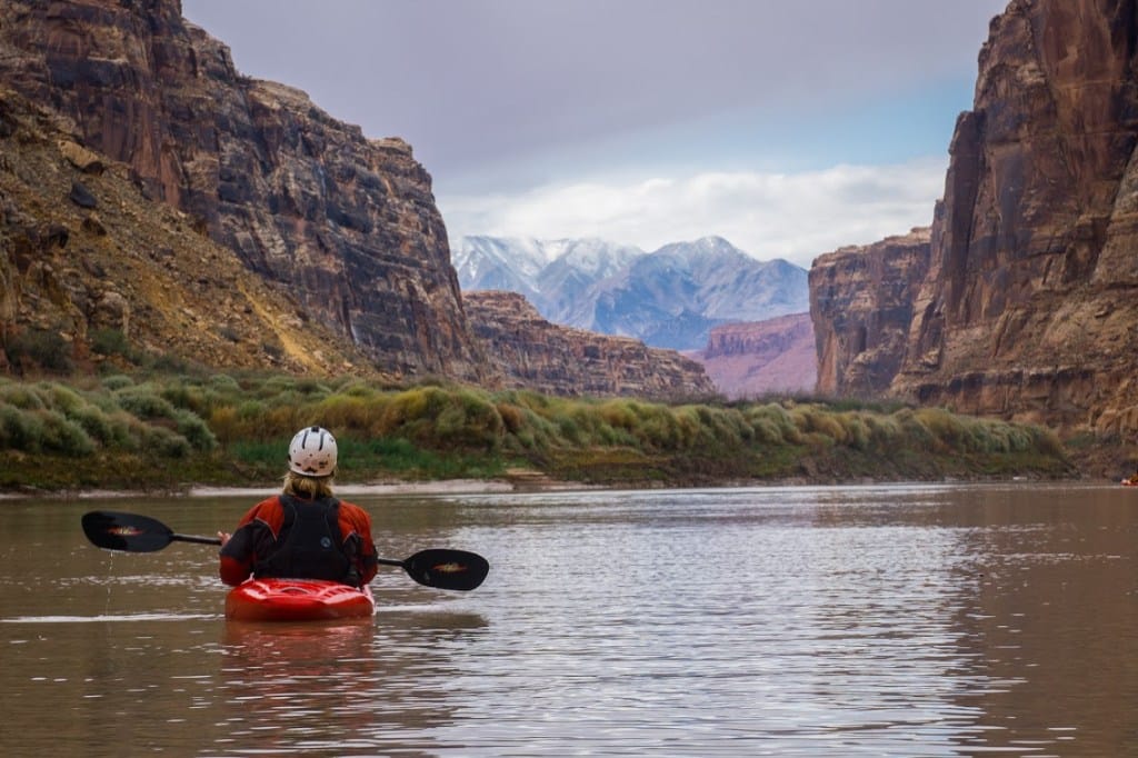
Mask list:
[{"label": "distant blue mountain range with snow-dusted peaks", "polygon": [[702,349],[714,327],[809,311],[807,271],[758,261],[719,237],[654,253],[600,239],[463,237],[463,290],[519,293],[553,323]]}]

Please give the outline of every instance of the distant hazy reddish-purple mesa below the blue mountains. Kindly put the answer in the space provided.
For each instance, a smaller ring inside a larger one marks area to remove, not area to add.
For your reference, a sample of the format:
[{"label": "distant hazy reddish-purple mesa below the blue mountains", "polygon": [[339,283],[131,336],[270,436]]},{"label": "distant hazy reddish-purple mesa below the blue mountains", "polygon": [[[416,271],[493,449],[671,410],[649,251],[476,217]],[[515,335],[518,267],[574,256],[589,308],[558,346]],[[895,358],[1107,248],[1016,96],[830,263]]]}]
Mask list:
[{"label": "distant hazy reddish-purple mesa below the blue mountains", "polygon": [[810,314],[716,327],[692,356],[729,398],[814,390],[818,362]]}]

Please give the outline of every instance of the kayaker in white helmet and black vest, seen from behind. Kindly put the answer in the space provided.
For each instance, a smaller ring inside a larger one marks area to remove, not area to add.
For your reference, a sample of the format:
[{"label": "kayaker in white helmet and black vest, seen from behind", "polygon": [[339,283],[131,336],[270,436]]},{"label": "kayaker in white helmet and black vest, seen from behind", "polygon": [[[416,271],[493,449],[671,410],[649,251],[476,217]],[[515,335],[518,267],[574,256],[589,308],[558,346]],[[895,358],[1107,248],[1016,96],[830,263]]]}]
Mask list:
[{"label": "kayaker in white helmet and black vest, seen from behind", "polygon": [[336,438],[327,429],[296,432],[281,494],[254,505],[232,535],[221,532],[221,580],[254,576],[330,579],[362,587],[376,576],[371,517],[332,496]]}]

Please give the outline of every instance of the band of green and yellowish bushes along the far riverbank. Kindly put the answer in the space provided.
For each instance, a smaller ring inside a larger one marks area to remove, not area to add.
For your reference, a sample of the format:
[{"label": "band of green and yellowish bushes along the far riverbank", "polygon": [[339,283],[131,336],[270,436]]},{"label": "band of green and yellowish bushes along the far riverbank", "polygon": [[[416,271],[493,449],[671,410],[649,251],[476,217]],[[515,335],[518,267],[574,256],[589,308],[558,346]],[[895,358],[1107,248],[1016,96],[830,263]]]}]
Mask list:
[{"label": "band of green and yellowish bushes along the far riverbank", "polygon": [[341,483],[516,471],[630,487],[1075,475],[1046,429],[942,409],[147,373],[0,379],[0,491],[274,486],[288,439],[308,425],[336,434]]}]

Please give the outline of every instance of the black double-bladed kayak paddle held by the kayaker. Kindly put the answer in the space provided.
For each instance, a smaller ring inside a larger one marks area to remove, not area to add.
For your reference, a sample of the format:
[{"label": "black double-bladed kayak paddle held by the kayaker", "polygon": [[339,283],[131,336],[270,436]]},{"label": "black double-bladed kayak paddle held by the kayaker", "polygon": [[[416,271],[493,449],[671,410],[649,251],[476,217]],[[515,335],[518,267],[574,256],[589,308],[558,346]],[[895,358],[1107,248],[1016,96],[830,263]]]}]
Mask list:
[{"label": "black double-bladed kayak paddle held by the kayaker", "polygon": [[[83,534],[98,547],[125,550],[132,553],[154,552],[172,542],[221,544],[218,537],[174,534],[157,519],[118,511],[84,513]],[[440,590],[473,590],[483,583],[490,570],[487,560],[477,553],[442,547],[421,550],[402,561],[394,558],[376,560],[384,566],[398,566],[419,584]]]}]

